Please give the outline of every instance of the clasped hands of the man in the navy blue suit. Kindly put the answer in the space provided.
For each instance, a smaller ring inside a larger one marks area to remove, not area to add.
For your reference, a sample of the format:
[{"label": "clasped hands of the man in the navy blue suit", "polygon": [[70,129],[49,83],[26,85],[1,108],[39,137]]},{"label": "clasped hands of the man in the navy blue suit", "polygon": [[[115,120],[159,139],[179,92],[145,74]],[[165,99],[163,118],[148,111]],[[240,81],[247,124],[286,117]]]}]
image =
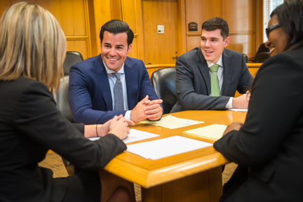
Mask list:
[{"label": "clasped hands of the man in the navy blue suit", "polygon": [[149,119],[150,121],[157,121],[161,119],[163,109],[161,103],[163,100],[149,100],[149,96],[144,97],[143,100],[137,103],[135,108],[130,112],[130,120],[133,122],[143,121]]}]

